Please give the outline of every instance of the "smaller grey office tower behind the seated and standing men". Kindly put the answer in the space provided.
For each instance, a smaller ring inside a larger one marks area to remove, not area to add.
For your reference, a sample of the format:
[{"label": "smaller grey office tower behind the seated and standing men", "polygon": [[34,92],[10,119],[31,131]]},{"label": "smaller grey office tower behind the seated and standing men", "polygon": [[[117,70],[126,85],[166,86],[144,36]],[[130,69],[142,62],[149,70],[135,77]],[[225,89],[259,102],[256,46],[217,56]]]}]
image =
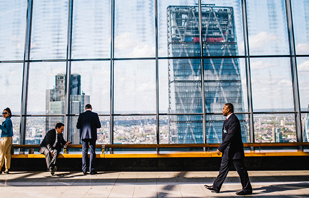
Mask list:
[{"label": "smaller grey office tower behind the seated and standing men", "polygon": [[[79,114],[85,111],[85,105],[90,103],[90,96],[81,94],[81,75],[71,74],[70,87],[70,112]],[[46,115],[64,114],[65,105],[65,74],[56,75],[56,86],[54,89],[46,90]],[[69,117],[70,137],[69,141],[79,144],[79,131],[76,129],[77,116]],[[58,122],[64,123],[64,117],[49,116],[45,118],[45,131],[53,129]]]}]

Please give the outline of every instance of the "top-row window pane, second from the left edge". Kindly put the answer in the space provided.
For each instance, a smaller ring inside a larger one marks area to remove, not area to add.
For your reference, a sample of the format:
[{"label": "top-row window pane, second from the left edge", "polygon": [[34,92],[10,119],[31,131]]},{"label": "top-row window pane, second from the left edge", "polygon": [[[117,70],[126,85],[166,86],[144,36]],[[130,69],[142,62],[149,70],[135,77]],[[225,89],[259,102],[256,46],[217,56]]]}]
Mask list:
[{"label": "top-row window pane, second from the left edge", "polygon": [[31,32],[33,59],[65,59],[68,0],[34,0]]}]

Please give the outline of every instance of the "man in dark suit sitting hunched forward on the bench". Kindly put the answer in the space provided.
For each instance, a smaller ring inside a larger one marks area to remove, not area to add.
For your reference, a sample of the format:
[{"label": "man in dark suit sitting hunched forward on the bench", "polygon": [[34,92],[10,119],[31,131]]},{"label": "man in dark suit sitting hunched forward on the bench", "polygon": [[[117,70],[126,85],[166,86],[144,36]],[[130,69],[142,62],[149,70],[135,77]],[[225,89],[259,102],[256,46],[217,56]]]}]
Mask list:
[{"label": "man in dark suit sitting hunched forward on the bench", "polygon": [[47,171],[50,172],[51,175],[54,175],[55,171],[57,171],[57,156],[61,151],[61,144],[70,146],[70,142],[66,142],[63,139],[63,129],[64,124],[57,123],[55,129],[48,131],[42,141],[39,152],[45,155]]}]

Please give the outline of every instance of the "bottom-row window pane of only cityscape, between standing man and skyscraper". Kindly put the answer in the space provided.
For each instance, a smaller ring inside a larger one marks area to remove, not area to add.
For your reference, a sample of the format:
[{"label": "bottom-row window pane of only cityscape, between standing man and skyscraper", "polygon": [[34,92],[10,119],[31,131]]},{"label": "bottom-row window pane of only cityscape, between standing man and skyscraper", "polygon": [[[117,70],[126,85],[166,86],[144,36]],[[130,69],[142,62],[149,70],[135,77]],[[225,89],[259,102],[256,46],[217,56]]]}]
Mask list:
[{"label": "bottom-row window pane of only cityscape, between standing man and skyscraper", "polygon": [[156,116],[115,116],[114,144],[157,144]]}]

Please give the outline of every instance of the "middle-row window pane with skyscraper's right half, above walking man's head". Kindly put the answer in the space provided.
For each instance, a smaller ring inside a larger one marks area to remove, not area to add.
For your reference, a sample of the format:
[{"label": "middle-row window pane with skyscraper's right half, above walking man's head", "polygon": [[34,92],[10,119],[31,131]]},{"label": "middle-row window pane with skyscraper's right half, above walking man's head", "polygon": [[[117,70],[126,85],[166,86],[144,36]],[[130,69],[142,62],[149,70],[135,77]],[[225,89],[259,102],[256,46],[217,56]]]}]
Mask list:
[{"label": "middle-row window pane with skyscraper's right half, above walking man's head", "polygon": [[235,112],[247,111],[244,59],[204,59],[204,74],[206,113],[221,113],[227,102]]}]

